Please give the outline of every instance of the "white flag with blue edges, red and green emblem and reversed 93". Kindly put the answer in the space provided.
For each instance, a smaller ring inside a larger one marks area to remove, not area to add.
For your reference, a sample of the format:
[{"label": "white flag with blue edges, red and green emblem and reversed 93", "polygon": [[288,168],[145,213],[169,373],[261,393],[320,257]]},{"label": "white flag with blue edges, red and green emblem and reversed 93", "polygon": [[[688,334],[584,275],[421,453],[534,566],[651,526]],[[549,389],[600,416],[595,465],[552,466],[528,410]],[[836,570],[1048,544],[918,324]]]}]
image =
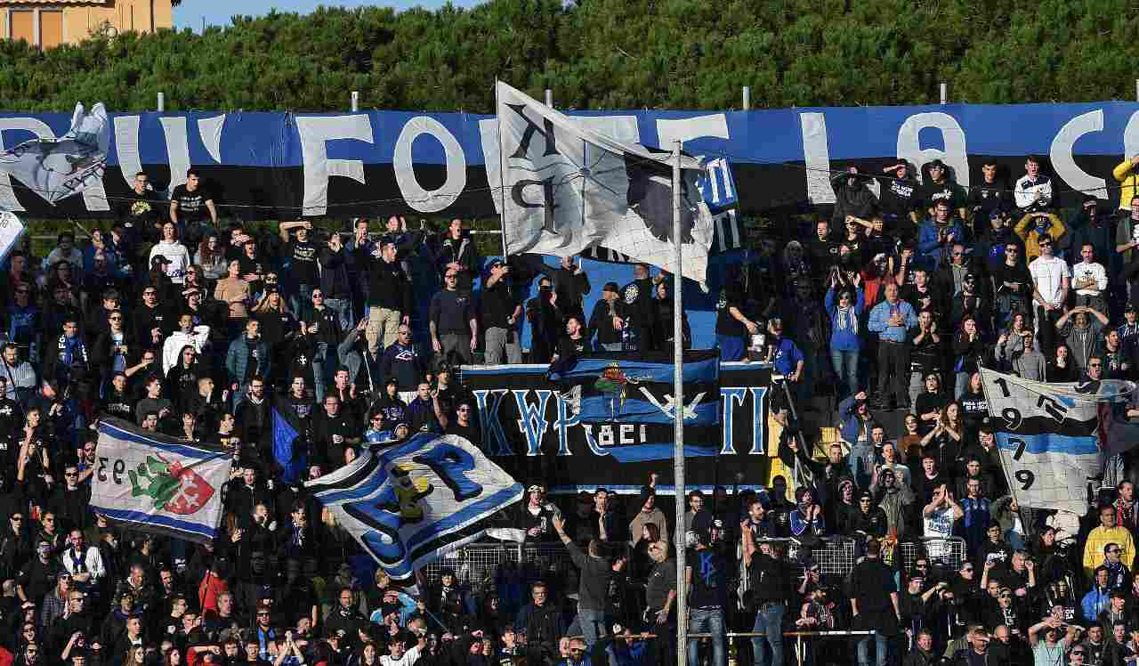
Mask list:
[{"label": "white flag with blue edges, red and green emblem and reversed 93", "polygon": [[91,510],[132,529],[191,542],[213,539],[232,456],[118,419],[99,421]]}]

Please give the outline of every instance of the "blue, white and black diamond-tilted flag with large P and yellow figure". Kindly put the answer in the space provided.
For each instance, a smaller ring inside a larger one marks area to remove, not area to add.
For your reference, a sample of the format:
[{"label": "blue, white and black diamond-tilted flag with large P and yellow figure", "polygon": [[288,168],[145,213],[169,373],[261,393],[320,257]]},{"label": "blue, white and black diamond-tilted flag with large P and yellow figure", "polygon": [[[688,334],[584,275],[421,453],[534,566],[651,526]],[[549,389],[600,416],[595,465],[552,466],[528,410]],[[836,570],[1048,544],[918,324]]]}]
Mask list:
[{"label": "blue, white and black diamond-tilted flag with large P and yellow figure", "polygon": [[522,498],[523,488],[477,447],[419,433],[305,486],[336,522],[395,579],[483,535],[478,521]]}]

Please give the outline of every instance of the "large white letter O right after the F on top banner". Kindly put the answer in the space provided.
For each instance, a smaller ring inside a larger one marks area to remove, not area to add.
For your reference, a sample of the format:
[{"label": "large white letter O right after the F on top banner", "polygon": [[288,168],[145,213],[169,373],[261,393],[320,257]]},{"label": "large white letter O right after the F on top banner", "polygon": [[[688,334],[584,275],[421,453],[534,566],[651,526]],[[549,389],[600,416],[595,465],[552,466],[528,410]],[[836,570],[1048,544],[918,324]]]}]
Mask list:
[{"label": "large white letter O right after the F on top banner", "polygon": [[[411,160],[411,144],[420,135],[431,135],[443,145],[446,160],[446,180],[439,189],[424,189],[416,178]],[[395,155],[392,156],[392,169],[395,171],[395,184],[404,202],[421,213],[436,213],[454,203],[467,187],[467,156],[462,146],[451,130],[437,120],[418,115],[408,121],[395,140]]]}]

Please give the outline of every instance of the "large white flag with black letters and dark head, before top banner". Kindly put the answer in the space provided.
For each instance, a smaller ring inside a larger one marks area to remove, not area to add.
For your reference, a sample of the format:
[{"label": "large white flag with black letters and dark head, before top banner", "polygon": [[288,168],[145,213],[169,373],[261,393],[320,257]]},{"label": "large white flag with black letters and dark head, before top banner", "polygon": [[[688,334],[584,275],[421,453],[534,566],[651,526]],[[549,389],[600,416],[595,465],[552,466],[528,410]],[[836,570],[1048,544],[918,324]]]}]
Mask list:
[{"label": "large white flag with black letters and dark head, before top banner", "polygon": [[[506,251],[556,257],[601,245],[636,261],[681,273],[672,238],[671,153],[623,141],[604,123],[571,119],[498,83],[497,141],[487,180],[502,214]],[[681,156],[683,276],[703,283],[712,213],[697,182],[706,166]]]}]

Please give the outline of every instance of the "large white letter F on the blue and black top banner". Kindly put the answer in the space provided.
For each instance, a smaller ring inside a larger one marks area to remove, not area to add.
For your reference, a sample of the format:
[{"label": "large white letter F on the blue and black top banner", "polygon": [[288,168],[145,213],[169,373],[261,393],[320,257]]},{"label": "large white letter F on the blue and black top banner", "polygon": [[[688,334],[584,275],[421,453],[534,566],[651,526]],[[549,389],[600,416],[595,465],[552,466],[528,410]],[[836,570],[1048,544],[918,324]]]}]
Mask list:
[{"label": "large white letter F on the blue and black top banner", "polygon": [[322,216],[328,212],[329,177],[343,176],[366,185],[363,162],[329,160],[325,144],[336,139],[371,144],[371,121],[367,115],[305,116],[296,119],[296,131],[301,135],[301,159],[304,162],[302,214]]}]

